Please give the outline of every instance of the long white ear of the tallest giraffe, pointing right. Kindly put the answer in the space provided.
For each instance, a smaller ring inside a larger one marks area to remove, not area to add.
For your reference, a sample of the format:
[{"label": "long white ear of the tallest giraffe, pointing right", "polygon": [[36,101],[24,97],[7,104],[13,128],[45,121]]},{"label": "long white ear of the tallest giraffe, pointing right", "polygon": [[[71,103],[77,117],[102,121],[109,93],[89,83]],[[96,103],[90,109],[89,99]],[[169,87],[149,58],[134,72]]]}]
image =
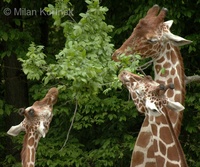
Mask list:
[{"label": "long white ear of the tallest giraffe, pointing right", "polygon": [[183,46],[192,43],[192,41],[179,37],[177,35],[172,34],[170,31],[165,33],[165,36],[175,45],[175,46]]}]

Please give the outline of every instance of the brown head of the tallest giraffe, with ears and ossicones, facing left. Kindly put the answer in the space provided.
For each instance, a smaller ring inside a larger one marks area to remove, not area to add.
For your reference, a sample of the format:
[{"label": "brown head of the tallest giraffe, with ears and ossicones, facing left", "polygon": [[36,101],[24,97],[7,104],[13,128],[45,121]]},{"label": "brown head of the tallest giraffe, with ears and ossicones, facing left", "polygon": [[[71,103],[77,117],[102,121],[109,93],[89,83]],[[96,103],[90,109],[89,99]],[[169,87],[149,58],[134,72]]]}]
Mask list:
[{"label": "brown head of the tallest giraffe, with ears and ossicones, facing left", "polygon": [[150,8],[147,15],[134,28],[131,36],[113,53],[113,60],[118,61],[117,56],[122,53],[140,54],[143,58],[157,58],[168,43],[173,46],[191,43],[192,41],[170,32],[173,21],[164,22],[166,13],[167,9],[160,10],[158,5]]}]

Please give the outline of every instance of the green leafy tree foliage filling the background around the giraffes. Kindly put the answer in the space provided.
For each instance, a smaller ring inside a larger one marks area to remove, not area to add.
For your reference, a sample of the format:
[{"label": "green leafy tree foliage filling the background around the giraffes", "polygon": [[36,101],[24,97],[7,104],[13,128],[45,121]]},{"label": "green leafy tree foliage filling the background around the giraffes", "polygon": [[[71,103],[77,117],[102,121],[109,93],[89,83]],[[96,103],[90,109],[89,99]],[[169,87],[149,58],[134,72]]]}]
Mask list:
[{"label": "green leafy tree foliage filling the background around the giraffes", "polygon": [[[199,12],[196,12],[199,2],[159,2],[160,6],[169,9],[167,19],[174,20],[172,31],[193,40],[192,45],[181,49],[186,75],[199,74],[200,20]],[[42,8],[46,13],[17,16],[5,25],[5,20],[0,21],[0,45],[4,48],[0,51],[1,59],[17,55],[28,79],[30,104],[41,99],[50,87],[59,89],[49,132],[38,145],[36,166],[129,166],[143,116],[138,114],[117,75],[123,69],[135,72],[143,61],[139,55],[134,56],[134,60],[122,55],[120,63],[113,62],[111,55],[154,3],[122,3],[119,0],[101,3],[98,0],[63,0],[53,3],[28,4],[21,0],[21,7]],[[4,8],[12,4],[14,2],[4,2]],[[189,24],[193,26],[187,26]],[[45,31],[48,32],[46,37]],[[6,135],[4,118],[16,110],[3,99],[6,87],[3,63],[0,68],[0,141],[3,141],[0,150],[5,151],[0,156],[0,165],[20,166],[16,155],[20,154],[24,134],[15,138]],[[151,74],[152,70],[148,68],[145,72]],[[200,165],[200,149],[197,147],[199,88],[197,83],[187,87],[180,136],[189,166]],[[13,143],[11,147],[14,149],[8,149],[8,143]]]}]

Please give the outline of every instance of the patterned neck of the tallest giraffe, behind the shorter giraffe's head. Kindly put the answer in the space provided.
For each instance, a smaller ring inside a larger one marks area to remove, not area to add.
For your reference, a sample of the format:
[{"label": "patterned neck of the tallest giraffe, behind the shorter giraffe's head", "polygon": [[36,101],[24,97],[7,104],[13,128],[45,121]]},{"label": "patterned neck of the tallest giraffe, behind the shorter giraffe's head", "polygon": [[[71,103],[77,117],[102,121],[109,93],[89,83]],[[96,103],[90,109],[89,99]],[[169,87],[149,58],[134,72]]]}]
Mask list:
[{"label": "patterned neck of the tallest giraffe, behind the shorter giraffe's head", "polygon": [[[185,98],[183,60],[177,47],[168,43],[165,48],[154,60],[155,81],[162,84],[173,83],[175,89],[167,90],[165,95],[170,100],[183,104]],[[170,121],[177,136],[180,134],[182,116],[183,112],[170,112]]]}]

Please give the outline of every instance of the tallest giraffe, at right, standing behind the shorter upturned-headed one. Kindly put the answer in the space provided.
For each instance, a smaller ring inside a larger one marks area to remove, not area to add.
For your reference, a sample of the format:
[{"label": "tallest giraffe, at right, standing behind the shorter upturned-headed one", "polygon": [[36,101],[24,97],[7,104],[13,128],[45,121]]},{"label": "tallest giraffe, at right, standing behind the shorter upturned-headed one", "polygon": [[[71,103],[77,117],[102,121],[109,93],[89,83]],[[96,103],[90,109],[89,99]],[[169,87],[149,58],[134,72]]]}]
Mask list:
[{"label": "tallest giraffe, at right, standing behind the shorter upturned-headed one", "polygon": [[[185,98],[185,82],[184,82],[184,66],[179,46],[186,45],[192,41],[174,35],[170,32],[173,24],[172,20],[164,22],[167,9],[158,5],[154,5],[147,12],[134,28],[131,36],[117,49],[112,58],[118,60],[118,55],[140,54],[141,58],[152,58],[154,68],[154,80],[160,84],[174,83],[175,89],[168,89],[165,94],[175,102],[184,103]],[[173,112],[169,110],[169,119],[177,136],[180,134],[181,121],[183,111]],[[152,148],[150,126],[147,117],[144,118],[142,127],[137,137],[133,153],[131,166],[135,166],[134,162],[139,158],[138,152],[142,149],[139,147],[139,141],[149,139],[149,145],[143,149]],[[153,150],[151,156],[154,156]]]}]

